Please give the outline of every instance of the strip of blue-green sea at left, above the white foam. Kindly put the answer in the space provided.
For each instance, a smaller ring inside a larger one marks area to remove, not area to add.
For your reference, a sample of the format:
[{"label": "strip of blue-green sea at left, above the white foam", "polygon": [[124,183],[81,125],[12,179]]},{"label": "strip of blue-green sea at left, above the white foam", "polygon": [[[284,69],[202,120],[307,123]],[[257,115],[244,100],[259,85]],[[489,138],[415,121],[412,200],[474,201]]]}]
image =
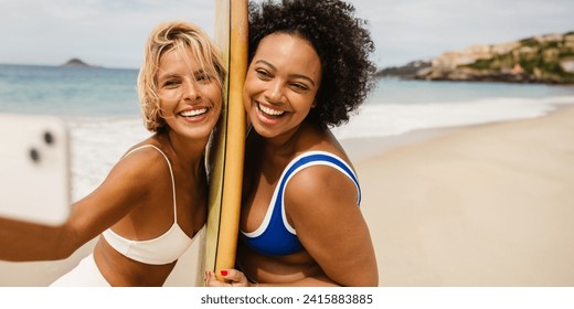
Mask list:
[{"label": "strip of blue-green sea at left, above the white foam", "polygon": [[0,65],[0,111],[138,115],[137,77],[136,70]]}]

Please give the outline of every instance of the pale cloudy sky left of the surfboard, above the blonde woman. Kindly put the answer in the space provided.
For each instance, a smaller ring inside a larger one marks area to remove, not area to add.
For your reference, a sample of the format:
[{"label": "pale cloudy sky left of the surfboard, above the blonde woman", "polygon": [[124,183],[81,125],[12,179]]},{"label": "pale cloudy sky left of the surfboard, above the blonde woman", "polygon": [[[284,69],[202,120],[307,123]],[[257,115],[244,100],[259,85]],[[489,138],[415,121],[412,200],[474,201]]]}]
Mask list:
[{"label": "pale cloudy sky left of the surfboard, above the blonde woman", "polygon": [[[148,33],[159,22],[187,20],[213,33],[212,1],[3,1],[0,62],[57,65],[70,57],[138,67]],[[4,44],[6,43],[6,44]]]}]

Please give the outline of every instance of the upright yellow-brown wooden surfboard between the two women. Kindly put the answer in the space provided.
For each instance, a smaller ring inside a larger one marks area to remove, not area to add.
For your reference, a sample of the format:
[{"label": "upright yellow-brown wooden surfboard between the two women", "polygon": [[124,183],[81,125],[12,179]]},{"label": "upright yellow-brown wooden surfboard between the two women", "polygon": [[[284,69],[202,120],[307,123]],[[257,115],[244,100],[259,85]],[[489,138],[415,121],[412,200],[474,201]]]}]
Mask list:
[{"label": "upright yellow-brown wooden surfboard between the two women", "polygon": [[242,92],[247,71],[247,0],[216,0],[215,41],[227,66],[223,115],[208,148],[210,175],[205,269],[234,268],[237,247],[245,109]]}]

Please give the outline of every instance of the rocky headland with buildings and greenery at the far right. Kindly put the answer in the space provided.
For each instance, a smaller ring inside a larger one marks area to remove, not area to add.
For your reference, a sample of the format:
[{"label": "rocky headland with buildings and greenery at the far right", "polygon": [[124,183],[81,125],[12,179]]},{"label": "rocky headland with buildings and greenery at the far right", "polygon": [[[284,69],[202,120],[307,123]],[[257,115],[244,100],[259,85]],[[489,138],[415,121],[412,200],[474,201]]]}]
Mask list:
[{"label": "rocky headland with buildings and greenery at the far right", "polygon": [[383,77],[574,84],[574,31],[490,45],[474,45],[431,60],[387,67]]}]

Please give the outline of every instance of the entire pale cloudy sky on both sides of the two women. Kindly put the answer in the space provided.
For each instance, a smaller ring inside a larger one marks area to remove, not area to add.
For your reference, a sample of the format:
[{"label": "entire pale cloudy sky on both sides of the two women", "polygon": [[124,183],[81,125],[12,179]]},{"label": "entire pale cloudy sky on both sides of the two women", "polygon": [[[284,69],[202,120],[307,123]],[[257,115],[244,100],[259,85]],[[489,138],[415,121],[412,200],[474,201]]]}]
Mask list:
[{"label": "entire pale cloudy sky on both sides of the two women", "polygon": [[[574,31],[573,0],[349,0],[380,68],[476,44]],[[187,20],[210,35],[215,0],[2,0],[0,63],[138,68],[151,29]]]}]

